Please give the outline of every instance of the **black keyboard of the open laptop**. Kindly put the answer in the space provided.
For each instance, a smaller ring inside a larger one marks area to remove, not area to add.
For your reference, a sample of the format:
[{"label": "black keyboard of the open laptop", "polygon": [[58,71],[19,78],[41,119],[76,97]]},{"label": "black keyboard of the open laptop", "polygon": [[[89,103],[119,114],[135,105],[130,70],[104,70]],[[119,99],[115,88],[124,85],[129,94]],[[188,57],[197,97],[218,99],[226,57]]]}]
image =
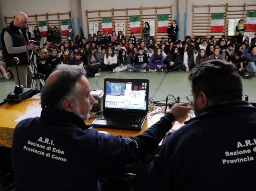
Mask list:
[{"label": "black keyboard of the open laptop", "polygon": [[125,121],[125,122],[143,122],[143,114],[130,114],[126,112],[102,112],[98,119],[101,120],[116,120],[116,121]]}]

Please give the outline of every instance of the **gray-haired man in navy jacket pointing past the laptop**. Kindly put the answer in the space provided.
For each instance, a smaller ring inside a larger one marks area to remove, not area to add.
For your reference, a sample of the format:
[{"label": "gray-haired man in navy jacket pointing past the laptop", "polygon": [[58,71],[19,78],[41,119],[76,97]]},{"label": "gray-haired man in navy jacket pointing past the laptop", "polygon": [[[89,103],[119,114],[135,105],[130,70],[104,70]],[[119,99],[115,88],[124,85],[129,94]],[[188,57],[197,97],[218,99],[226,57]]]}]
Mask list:
[{"label": "gray-haired man in navy jacket pointing past the laptop", "polygon": [[98,191],[99,174],[143,158],[191,107],[177,104],[138,136],[98,132],[84,120],[94,102],[85,71],[58,65],[41,93],[40,117],[18,123],[12,142],[16,190]]}]

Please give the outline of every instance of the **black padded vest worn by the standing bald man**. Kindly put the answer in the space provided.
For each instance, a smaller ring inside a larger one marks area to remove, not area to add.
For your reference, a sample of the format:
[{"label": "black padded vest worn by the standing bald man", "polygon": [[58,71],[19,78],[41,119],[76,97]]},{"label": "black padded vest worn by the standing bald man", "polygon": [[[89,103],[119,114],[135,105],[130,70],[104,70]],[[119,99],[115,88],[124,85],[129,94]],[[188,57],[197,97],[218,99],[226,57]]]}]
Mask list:
[{"label": "black padded vest worn by the standing bald man", "polygon": [[[13,43],[13,47],[21,47],[21,46],[25,46],[25,43],[23,41],[22,35],[19,31],[19,28],[14,26],[13,21],[10,22],[10,26],[8,28],[4,28],[2,33],[1,33],[1,39],[2,39],[2,46],[3,46],[3,55],[4,55],[4,60],[6,61],[6,67],[10,67],[10,66],[14,66],[14,64],[12,63],[12,58],[17,57],[18,59],[20,59],[20,63],[19,65],[28,65],[28,56],[26,52],[22,52],[22,53],[17,53],[17,54],[9,54],[7,49],[6,49],[6,45],[4,42],[4,32],[8,32],[11,37],[12,37],[12,43]],[[28,35],[26,33],[26,28],[21,30],[27,43],[29,43],[29,38]]]}]

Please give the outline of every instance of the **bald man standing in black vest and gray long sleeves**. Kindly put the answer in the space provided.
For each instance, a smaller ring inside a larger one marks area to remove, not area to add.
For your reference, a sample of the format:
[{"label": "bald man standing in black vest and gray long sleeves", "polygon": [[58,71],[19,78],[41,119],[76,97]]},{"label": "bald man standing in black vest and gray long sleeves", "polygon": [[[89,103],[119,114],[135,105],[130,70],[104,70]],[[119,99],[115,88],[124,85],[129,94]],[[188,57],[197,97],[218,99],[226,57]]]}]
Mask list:
[{"label": "bald man standing in black vest and gray long sleeves", "polygon": [[18,85],[18,76],[15,64],[12,59],[17,57],[20,59],[18,64],[18,75],[20,78],[20,85],[24,88],[31,87],[33,71],[31,69],[29,59],[30,50],[36,50],[37,46],[30,43],[29,37],[26,33],[28,26],[28,16],[20,12],[15,16],[14,21],[10,22],[8,28],[4,28],[1,33],[3,55],[6,61],[6,67],[10,67],[16,85]]}]

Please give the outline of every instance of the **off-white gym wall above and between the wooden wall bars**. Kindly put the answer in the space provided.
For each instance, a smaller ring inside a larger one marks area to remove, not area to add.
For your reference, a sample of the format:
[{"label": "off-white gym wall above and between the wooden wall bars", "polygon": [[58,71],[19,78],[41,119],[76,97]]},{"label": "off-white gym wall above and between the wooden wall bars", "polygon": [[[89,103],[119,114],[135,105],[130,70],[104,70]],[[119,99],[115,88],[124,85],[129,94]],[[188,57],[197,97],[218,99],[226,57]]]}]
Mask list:
[{"label": "off-white gym wall above and between the wooden wall bars", "polygon": [[[71,11],[72,0],[0,0],[0,12],[2,18],[0,20],[4,22],[4,16],[15,16],[18,12],[24,12],[27,15],[45,14],[45,13],[57,13],[57,12],[69,12]],[[207,5],[207,4],[244,4],[244,1],[238,0],[187,0],[187,35],[192,35],[192,18],[193,18],[193,4],[195,5]],[[254,4],[255,0],[247,0],[246,4]],[[173,7],[172,16],[173,19],[177,19],[178,3],[177,1],[149,1],[149,0],[81,0],[82,7],[82,20],[84,34],[87,36],[87,24],[86,24],[86,10],[106,10],[106,9],[118,9],[118,8],[138,8],[138,7],[155,7],[155,6],[171,6]],[[185,5],[184,5],[185,6]],[[161,13],[161,10],[158,10]],[[74,18],[76,19],[76,18]],[[1,29],[0,29],[1,30]],[[182,35],[182,34],[181,34]]]}]

